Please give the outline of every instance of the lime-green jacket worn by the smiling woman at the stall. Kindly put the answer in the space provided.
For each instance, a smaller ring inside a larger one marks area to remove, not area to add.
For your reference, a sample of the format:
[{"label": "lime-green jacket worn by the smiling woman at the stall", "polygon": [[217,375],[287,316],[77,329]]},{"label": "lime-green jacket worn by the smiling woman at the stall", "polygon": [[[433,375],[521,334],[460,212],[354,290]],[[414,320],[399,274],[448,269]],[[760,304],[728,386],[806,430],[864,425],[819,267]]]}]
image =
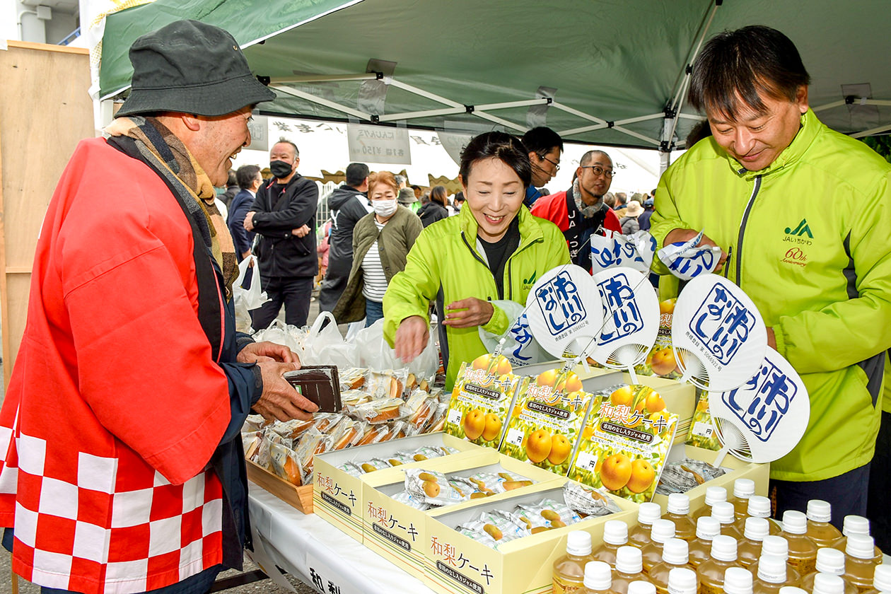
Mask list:
[{"label": "lime-green jacket worn by the smiling woman at the stall", "polygon": [[[569,263],[569,251],[563,233],[555,224],[519,209],[519,247],[504,265],[504,298],[526,304],[526,296],[535,281],[554,266]],[[384,338],[390,346],[396,329],[405,318],[420,315],[429,320],[431,301],[437,311],[459,299],[477,297],[496,301],[495,277],[477,242],[477,221],[464,207],[429,225],[408,255],[405,271],[396,274],[384,296]],[[503,334],[512,320],[495,305],[492,319],[483,330]],[[461,363],[486,353],[477,328],[447,328],[440,325],[439,348],[446,364],[446,390],[454,386]],[[443,338],[445,329],[445,339]]]}]

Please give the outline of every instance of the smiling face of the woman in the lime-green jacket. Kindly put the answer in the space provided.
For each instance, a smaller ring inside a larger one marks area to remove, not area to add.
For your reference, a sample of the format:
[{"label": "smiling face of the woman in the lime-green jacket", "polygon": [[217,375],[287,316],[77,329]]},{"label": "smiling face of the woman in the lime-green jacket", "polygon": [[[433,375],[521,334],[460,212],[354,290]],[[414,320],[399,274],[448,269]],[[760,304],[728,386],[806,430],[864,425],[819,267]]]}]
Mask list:
[{"label": "smiling face of the woman in the lime-green jacket", "polygon": [[462,179],[462,186],[479,238],[490,243],[503,238],[523,205],[519,175],[501,159],[479,159],[470,167],[468,179]]}]

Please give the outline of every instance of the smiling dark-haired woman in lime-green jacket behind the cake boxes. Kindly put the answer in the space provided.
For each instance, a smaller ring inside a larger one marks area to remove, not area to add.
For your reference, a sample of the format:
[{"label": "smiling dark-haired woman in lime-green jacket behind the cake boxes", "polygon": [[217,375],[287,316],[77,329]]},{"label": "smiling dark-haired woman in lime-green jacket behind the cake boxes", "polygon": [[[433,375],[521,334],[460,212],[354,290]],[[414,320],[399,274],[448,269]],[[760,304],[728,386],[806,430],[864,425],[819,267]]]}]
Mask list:
[{"label": "smiling dark-haired woman in lime-green jacket behind the cake boxes", "polygon": [[465,206],[421,232],[384,297],[384,338],[404,362],[427,345],[436,302],[449,390],[461,363],[486,353],[480,331],[497,337],[515,321],[505,302],[525,305],[542,274],[569,263],[557,226],[523,206],[532,166],[519,139],[478,135],[462,151],[460,178]]}]

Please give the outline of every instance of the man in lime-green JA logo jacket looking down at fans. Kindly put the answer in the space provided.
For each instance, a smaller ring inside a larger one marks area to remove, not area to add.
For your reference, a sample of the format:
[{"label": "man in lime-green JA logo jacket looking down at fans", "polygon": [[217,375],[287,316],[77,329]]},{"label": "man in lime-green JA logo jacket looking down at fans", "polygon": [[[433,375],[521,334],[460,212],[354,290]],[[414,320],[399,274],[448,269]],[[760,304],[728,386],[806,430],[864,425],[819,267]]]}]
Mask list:
[{"label": "man in lime-green JA logo jacket looking down at fans", "polygon": [[[891,165],[816,118],[809,80],[779,31],[712,38],[690,100],[714,135],[662,176],[651,232],[661,247],[704,231],[723,249],[719,273],[755,301],[810,395],[804,437],[771,467],[776,515],[822,499],[840,526],[866,513],[891,346]],[[662,284],[671,297],[676,280]]]}]

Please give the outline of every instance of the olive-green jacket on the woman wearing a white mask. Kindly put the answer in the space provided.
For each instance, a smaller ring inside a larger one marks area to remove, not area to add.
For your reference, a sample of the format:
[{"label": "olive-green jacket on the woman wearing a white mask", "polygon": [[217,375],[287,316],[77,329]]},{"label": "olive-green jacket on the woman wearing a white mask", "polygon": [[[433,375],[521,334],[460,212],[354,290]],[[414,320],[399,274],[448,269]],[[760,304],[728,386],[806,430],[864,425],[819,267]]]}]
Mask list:
[{"label": "olive-green jacket on the woman wearing a white mask", "polygon": [[378,225],[374,224],[374,213],[359,219],[353,228],[353,267],[349,271],[347,288],[344,289],[332,312],[339,324],[359,321],[365,317],[362,261],[374,241],[378,242],[380,265],[383,266],[384,276],[389,283],[396,273],[405,269],[405,257],[408,256],[408,251],[414,245],[414,240],[418,239],[422,229],[421,219],[401,205],[396,208],[396,214],[380,231]]}]

